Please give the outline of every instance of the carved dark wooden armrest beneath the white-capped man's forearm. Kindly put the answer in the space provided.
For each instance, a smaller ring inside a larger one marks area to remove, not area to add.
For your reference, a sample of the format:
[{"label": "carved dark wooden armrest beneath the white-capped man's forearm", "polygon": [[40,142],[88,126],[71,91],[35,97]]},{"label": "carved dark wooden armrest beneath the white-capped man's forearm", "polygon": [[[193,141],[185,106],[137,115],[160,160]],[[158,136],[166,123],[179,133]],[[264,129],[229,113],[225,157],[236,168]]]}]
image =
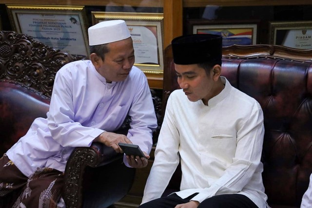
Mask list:
[{"label": "carved dark wooden armrest beneath the white-capped man's forearm", "polygon": [[67,161],[64,172],[62,197],[66,208],[82,208],[82,182],[87,166],[96,168],[120,157],[123,157],[123,154],[98,142],[93,142],[90,147],[75,148]]}]

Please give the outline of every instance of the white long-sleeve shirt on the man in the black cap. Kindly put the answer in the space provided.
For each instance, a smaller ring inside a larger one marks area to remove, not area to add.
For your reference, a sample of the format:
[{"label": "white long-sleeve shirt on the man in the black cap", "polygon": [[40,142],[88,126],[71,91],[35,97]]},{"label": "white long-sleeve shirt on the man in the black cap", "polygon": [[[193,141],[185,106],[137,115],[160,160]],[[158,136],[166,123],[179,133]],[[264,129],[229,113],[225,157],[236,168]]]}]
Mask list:
[{"label": "white long-sleeve shirt on the man in the black cap", "polygon": [[[191,102],[174,91],[155,151],[155,161],[144,189],[142,204],[159,198],[181,158],[182,198],[203,200],[239,193],[259,208],[266,207],[260,162],[264,127],[259,103],[221,77],[225,88],[211,98]],[[179,158],[180,157],[180,158]]]}]

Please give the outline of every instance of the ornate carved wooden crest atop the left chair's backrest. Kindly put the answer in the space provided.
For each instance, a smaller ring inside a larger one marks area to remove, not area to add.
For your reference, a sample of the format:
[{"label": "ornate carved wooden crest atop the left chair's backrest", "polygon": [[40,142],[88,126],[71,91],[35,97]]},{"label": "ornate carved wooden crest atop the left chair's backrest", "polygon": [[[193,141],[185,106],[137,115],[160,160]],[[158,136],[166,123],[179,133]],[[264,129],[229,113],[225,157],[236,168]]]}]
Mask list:
[{"label": "ornate carved wooden crest atop the left chair's backrest", "polygon": [[0,79],[14,80],[51,97],[56,72],[79,60],[26,34],[0,31]]}]

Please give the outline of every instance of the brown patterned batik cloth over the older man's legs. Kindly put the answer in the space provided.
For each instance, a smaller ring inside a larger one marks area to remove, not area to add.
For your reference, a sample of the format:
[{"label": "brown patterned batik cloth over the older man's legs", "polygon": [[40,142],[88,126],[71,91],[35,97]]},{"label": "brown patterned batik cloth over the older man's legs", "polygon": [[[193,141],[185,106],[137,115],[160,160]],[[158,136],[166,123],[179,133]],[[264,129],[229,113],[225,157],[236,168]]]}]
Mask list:
[{"label": "brown patterned batik cloth over the older man's legs", "polygon": [[25,176],[6,156],[0,158],[1,208],[59,208],[63,173],[38,168]]}]

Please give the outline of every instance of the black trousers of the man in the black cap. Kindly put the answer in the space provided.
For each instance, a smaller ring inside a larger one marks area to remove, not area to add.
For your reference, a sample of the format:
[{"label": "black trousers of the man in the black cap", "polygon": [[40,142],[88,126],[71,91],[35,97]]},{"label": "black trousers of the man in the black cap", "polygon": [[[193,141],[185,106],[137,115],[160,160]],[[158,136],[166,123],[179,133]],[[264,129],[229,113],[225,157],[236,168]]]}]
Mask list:
[{"label": "black trousers of the man in the black cap", "polygon": [[[171,194],[144,203],[139,208],[175,208],[176,205],[188,203],[197,193],[182,199]],[[258,208],[252,200],[242,194],[222,194],[205,199],[197,208]]]}]

